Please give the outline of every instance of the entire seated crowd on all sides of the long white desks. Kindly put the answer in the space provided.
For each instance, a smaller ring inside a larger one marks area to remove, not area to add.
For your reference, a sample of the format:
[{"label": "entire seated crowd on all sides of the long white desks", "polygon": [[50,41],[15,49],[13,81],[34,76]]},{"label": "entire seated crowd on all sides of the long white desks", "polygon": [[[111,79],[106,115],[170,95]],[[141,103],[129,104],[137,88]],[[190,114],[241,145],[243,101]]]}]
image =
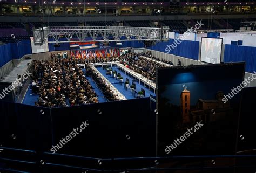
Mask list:
[{"label": "entire seated crowd on all sides of the long white desks", "polygon": [[159,58],[153,57],[150,51],[146,53],[127,53],[118,57],[90,59],[63,59],[56,58],[52,54],[50,60],[35,61],[32,77],[32,91],[33,93],[39,94],[38,101],[35,102],[35,105],[43,107],[63,107],[97,103],[97,94],[86,79],[84,71],[77,66],[77,64],[85,64],[86,75],[92,77],[107,100],[118,100],[117,95],[114,94],[110,86],[106,84],[106,79],[100,77],[89,63],[119,61],[134,72],[156,82],[156,68],[164,67],[165,65],[140,56],[173,65],[171,61],[160,60]]}]

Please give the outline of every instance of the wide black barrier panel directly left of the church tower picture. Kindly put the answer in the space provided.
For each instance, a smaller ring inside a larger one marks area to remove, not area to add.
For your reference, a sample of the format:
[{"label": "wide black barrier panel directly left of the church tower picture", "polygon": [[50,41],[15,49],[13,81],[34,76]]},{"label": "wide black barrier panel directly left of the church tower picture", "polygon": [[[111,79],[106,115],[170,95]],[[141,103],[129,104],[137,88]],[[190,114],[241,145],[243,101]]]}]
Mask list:
[{"label": "wide black barrier panel directly left of the church tower picture", "polygon": [[[53,108],[51,117],[55,149],[49,146],[49,152],[107,158],[155,154],[150,98]],[[83,122],[89,124],[84,130]]]}]

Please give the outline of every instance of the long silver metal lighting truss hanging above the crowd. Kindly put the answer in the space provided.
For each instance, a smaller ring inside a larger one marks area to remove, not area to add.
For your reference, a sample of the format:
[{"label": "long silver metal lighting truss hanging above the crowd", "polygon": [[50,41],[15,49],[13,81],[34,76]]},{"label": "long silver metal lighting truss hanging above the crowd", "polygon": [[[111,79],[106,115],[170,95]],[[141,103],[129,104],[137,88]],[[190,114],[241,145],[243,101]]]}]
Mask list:
[{"label": "long silver metal lighting truss hanging above the crowd", "polygon": [[[169,39],[169,27],[65,26],[43,27],[33,29],[32,31],[35,45],[42,45],[44,43]],[[49,41],[49,38],[53,38],[53,41]]]}]

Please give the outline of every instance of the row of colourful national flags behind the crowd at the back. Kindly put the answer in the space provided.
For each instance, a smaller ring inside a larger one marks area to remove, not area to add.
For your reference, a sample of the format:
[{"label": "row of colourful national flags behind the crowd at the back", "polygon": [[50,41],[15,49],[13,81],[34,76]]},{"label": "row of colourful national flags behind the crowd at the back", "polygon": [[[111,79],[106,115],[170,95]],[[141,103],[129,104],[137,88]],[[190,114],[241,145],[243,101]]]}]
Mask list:
[{"label": "row of colourful national flags behind the crowd at the back", "polygon": [[117,57],[120,56],[118,48],[106,49],[91,49],[91,50],[71,50],[72,58],[102,58],[102,57]]}]

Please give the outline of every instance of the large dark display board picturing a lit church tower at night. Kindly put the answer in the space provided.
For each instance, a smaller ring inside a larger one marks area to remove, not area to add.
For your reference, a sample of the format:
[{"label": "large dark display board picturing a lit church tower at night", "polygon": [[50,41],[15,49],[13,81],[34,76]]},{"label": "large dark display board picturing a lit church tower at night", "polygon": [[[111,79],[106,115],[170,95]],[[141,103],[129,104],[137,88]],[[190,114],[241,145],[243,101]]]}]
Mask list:
[{"label": "large dark display board picturing a lit church tower at night", "polygon": [[244,67],[157,69],[159,156],[235,154]]}]

